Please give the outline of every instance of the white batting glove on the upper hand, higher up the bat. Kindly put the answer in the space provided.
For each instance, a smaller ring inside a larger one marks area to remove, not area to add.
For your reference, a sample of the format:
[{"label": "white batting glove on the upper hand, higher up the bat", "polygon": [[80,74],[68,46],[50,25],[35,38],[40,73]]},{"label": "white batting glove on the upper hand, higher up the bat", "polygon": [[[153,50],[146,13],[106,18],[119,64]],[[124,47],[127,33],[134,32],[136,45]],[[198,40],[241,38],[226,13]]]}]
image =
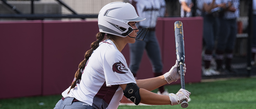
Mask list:
[{"label": "white batting glove on the upper hand, higher up the bat", "polygon": [[[165,80],[170,84],[173,81],[177,81],[178,79],[180,79],[180,70],[178,70],[178,60],[176,60],[176,64],[170,69],[169,72],[163,74],[163,76],[165,77]],[[186,64],[183,65],[183,72],[184,72],[184,76],[186,73]]]}]

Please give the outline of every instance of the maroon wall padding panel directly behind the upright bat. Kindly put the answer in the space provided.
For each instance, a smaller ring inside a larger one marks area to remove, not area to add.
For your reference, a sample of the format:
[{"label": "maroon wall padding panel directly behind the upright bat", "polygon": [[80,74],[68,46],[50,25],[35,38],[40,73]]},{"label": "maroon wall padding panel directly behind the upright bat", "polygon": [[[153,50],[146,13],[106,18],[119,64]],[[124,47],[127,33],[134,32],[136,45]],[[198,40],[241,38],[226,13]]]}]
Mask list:
[{"label": "maroon wall padding panel directly behind the upright bat", "polygon": [[[202,30],[203,18],[202,17],[189,17],[189,18],[162,18],[164,24],[163,32],[163,72],[168,72],[175,64],[176,48],[174,37],[174,22],[181,21],[183,24],[184,32],[184,47],[185,47],[185,64],[187,65],[187,72],[185,74],[185,82],[200,82],[201,80],[201,53],[202,53]],[[173,82],[171,84],[178,84]]]}]

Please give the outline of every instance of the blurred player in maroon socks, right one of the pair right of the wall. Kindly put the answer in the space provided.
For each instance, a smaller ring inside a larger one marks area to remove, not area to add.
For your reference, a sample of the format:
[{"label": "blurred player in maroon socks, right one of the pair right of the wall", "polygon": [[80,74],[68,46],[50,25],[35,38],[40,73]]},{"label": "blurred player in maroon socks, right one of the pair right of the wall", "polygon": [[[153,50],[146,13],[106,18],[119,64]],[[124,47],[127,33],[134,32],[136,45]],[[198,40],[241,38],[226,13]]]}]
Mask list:
[{"label": "blurred player in maroon socks, right one of the pair right of the wall", "polygon": [[[235,73],[231,67],[233,59],[233,49],[236,42],[237,35],[237,21],[240,11],[240,0],[217,0],[218,3],[225,4],[224,15],[219,17],[221,29],[219,32],[217,49],[216,49],[216,63],[217,70],[221,73],[229,72]],[[225,56],[224,56],[225,53]],[[225,69],[222,67],[222,62],[225,60]]]}]

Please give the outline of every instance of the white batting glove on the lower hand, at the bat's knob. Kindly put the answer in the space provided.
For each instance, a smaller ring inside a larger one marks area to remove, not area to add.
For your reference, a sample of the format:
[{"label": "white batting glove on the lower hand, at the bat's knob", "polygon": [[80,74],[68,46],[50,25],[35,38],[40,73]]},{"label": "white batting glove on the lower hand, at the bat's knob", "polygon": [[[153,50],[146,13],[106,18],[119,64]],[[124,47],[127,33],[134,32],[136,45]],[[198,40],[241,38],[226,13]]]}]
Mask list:
[{"label": "white batting glove on the lower hand, at the bat's knob", "polygon": [[176,94],[169,93],[169,98],[170,98],[170,101],[172,102],[171,105],[173,106],[173,105],[180,104],[183,100],[186,100],[188,102],[190,94],[191,93],[185,89],[180,89]]}]

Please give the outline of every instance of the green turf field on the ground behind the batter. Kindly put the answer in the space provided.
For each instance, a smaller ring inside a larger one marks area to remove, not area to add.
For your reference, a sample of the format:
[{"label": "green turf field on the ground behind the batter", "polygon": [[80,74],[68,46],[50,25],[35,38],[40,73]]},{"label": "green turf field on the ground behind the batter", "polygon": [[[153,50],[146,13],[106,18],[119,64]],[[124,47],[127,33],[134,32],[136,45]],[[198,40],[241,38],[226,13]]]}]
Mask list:
[{"label": "green turf field on the ground behind the batter", "polygon": [[[165,86],[176,93],[180,85]],[[256,78],[240,78],[226,81],[186,84],[191,92],[187,109],[256,109]],[[157,92],[153,90],[152,92]],[[44,97],[23,97],[0,100],[0,109],[53,109],[61,95]],[[39,106],[39,102],[45,105]],[[119,106],[118,109],[182,109],[180,105],[170,106]]]}]

